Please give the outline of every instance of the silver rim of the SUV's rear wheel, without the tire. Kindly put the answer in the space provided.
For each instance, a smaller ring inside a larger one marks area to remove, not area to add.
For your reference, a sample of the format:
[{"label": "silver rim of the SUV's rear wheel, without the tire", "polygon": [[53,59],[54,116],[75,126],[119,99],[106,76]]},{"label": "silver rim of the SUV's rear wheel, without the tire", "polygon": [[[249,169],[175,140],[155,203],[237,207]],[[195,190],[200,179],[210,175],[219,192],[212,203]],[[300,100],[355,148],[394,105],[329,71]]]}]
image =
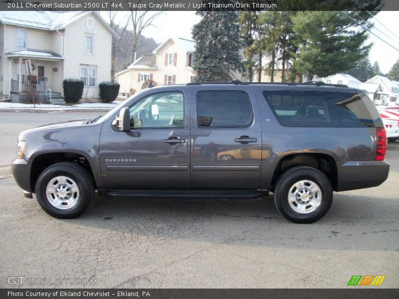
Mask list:
[{"label": "silver rim of the SUV's rear wheel, without the tire", "polygon": [[288,192],[290,207],[301,214],[315,211],[320,206],[321,200],[322,192],[320,186],[307,179],[293,184]]}]

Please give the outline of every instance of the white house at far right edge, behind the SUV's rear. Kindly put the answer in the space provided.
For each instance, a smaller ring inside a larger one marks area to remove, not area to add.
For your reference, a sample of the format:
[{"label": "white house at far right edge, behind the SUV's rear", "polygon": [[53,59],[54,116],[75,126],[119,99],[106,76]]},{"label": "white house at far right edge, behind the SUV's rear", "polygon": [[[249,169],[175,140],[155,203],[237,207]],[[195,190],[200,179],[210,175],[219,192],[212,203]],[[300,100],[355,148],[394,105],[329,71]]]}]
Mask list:
[{"label": "white house at far right edge, behind the SUV's rear", "polygon": [[[366,83],[378,83],[381,85],[381,91],[376,93],[374,99],[378,101],[379,105],[396,106],[399,105],[399,86],[394,81],[391,81],[384,76],[374,76],[366,81]],[[370,97],[373,99],[372,97]]]}]

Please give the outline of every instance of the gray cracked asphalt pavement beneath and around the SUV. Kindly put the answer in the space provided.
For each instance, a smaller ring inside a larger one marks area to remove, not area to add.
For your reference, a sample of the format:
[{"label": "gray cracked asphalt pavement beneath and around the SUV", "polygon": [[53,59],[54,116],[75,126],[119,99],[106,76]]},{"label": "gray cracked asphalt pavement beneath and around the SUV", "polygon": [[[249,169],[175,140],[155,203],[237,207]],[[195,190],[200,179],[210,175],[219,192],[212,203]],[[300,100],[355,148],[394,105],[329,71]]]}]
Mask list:
[{"label": "gray cracked asphalt pavement beneath and around the SUV", "polygon": [[[21,129],[74,117],[0,114],[2,155],[12,159]],[[23,287],[345,288],[352,275],[385,275],[380,288],[398,288],[399,142],[387,159],[384,184],[335,193],[310,225],[286,221],[263,199],[96,197],[80,218],[58,220],[5,176],[0,287],[20,287],[7,278],[23,276],[97,282]]]}]

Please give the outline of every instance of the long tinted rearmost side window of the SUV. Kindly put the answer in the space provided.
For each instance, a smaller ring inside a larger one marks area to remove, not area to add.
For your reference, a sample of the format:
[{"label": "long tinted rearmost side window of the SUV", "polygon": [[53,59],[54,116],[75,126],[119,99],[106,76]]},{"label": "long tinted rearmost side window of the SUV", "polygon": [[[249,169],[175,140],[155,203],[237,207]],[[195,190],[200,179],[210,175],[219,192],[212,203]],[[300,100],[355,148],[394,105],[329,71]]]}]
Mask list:
[{"label": "long tinted rearmost side window of the SUV", "polygon": [[285,127],[374,127],[374,120],[357,93],[264,91],[263,95]]}]

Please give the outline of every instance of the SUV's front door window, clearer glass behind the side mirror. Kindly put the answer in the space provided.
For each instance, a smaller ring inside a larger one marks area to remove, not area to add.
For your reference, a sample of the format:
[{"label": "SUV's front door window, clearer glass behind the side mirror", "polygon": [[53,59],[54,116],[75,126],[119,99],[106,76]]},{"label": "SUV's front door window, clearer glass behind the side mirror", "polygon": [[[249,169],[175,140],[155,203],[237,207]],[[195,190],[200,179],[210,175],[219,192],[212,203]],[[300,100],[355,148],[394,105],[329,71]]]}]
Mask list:
[{"label": "SUV's front door window, clearer glass behind the side mirror", "polygon": [[149,95],[130,107],[132,128],[183,128],[184,95],[162,92]]}]

